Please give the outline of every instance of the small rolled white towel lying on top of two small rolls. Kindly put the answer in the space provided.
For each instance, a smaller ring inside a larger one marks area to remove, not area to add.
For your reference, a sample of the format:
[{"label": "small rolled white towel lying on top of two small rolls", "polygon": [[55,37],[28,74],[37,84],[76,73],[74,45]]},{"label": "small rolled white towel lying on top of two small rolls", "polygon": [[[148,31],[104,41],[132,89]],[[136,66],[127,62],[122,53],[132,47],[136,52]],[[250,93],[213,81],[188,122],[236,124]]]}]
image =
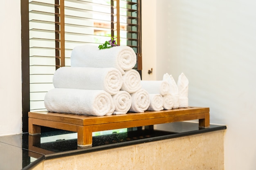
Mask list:
[{"label": "small rolled white towel lying on top of two small rolls", "polygon": [[142,80],[141,86],[148,93],[159,93],[162,96],[167,95],[170,91],[170,85],[166,81]]}]

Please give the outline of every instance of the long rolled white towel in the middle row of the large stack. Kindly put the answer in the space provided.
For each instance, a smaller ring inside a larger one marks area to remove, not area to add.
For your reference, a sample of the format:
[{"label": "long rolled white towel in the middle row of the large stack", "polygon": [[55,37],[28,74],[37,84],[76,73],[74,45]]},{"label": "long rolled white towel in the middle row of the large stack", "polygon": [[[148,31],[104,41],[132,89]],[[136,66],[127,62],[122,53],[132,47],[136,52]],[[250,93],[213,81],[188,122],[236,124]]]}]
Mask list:
[{"label": "long rolled white towel in the middle row of the large stack", "polygon": [[61,67],[54,73],[53,84],[55,88],[104,90],[115,95],[123,80],[116,68]]}]

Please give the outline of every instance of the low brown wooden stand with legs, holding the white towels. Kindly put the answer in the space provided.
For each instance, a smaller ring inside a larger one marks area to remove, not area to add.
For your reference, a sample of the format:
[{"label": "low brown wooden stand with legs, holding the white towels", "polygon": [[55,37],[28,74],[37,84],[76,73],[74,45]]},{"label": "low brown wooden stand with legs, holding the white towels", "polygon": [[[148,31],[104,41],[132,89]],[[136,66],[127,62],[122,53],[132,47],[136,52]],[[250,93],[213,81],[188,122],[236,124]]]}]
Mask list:
[{"label": "low brown wooden stand with legs, holding the white towels", "polygon": [[92,145],[92,132],[194,119],[199,119],[199,127],[208,128],[210,126],[209,108],[189,107],[101,117],[68,113],[29,112],[29,135],[40,134],[40,126],[69,130],[77,132],[77,144],[83,147]]}]

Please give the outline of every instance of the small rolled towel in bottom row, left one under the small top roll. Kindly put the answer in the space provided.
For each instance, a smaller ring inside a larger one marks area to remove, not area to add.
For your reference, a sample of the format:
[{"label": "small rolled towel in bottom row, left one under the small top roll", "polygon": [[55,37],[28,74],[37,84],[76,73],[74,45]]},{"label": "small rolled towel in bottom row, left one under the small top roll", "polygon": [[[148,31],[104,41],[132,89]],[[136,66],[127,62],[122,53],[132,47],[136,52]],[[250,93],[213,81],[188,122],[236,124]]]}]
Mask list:
[{"label": "small rolled towel in bottom row, left one under the small top roll", "polygon": [[149,93],[149,99],[150,99],[150,104],[147,110],[150,110],[150,111],[164,110],[163,108],[164,100],[162,95]]}]

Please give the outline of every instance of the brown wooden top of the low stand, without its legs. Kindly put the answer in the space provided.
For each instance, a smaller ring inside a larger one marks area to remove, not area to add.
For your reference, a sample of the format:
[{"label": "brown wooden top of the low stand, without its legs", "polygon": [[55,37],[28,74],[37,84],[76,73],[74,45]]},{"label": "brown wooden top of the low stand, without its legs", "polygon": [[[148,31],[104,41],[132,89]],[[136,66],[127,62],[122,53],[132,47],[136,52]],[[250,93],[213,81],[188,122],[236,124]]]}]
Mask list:
[{"label": "brown wooden top of the low stand, without its legs", "polygon": [[[173,110],[161,111],[146,111],[144,113],[126,113],[122,115],[110,116],[88,116],[88,115],[75,115],[68,113],[50,113],[50,112],[29,112],[29,117],[37,119],[61,121],[63,123],[77,124],[77,125],[94,125],[94,124],[108,124],[111,122],[132,121],[139,119],[154,119],[158,117],[177,116],[209,112],[209,108],[179,108]],[[40,114],[38,114],[40,113]]]}]

